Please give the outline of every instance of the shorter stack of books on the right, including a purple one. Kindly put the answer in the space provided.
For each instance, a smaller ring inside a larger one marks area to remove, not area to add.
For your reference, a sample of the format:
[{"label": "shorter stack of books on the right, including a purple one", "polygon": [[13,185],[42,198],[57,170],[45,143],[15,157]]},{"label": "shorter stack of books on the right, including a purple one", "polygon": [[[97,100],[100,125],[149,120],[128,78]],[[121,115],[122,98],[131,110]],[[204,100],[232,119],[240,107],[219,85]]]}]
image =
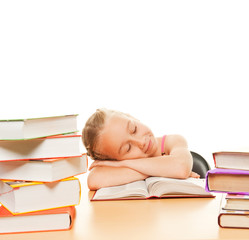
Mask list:
[{"label": "shorter stack of books on the right, including a purple one", "polygon": [[215,169],[206,175],[206,189],[223,193],[218,223],[249,228],[249,152],[213,153]]}]

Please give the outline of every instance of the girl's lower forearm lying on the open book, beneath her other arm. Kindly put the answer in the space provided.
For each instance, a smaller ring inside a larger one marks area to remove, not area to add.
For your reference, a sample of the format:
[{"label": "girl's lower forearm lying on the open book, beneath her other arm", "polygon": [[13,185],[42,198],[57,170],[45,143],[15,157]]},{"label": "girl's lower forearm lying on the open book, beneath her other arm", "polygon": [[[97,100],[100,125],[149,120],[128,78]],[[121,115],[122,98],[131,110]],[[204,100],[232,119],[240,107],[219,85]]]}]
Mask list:
[{"label": "girl's lower forearm lying on the open book, beneath her other arm", "polygon": [[147,177],[147,175],[130,168],[101,166],[92,169],[88,175],[87,183],[90,190],[97,190],[103,187],[144,180]]}]

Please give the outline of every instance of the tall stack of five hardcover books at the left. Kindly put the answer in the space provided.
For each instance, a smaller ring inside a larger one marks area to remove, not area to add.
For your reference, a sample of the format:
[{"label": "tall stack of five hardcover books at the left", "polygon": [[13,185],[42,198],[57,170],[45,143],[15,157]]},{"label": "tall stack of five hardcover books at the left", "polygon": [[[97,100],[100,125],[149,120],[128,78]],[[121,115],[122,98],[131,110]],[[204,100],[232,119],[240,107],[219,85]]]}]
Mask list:
[{"label": "tall stack of five hardcover books at the left", "polygon": [[0,120],[0,234],[67,230],[87,156],[77,115]]}]

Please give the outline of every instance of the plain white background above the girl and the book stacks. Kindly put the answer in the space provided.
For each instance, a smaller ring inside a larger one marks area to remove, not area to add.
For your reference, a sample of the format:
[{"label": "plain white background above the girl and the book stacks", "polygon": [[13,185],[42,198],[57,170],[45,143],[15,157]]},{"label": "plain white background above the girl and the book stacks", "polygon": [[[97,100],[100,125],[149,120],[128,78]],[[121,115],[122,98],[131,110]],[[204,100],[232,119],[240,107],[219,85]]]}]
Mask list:
[{"label": "plain white background above the girl and the book stacks", "polygon": [[[0,118],[129,113],[212,164],[247,147],[248,1],[0,1]],[[248,148],[249,149],[249,148]]]}]

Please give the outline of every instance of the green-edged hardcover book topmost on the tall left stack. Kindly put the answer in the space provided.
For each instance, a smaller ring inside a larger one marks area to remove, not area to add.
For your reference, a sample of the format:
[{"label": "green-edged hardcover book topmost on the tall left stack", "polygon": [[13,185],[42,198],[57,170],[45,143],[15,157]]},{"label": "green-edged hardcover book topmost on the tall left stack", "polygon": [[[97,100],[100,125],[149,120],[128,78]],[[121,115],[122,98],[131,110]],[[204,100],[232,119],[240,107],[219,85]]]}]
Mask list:
[{"label": "green-edged hardcover book topmost on the tall left stack", "polygon": [[77,131],[77,114],[0,120],[1,140],[32,139]]}]

